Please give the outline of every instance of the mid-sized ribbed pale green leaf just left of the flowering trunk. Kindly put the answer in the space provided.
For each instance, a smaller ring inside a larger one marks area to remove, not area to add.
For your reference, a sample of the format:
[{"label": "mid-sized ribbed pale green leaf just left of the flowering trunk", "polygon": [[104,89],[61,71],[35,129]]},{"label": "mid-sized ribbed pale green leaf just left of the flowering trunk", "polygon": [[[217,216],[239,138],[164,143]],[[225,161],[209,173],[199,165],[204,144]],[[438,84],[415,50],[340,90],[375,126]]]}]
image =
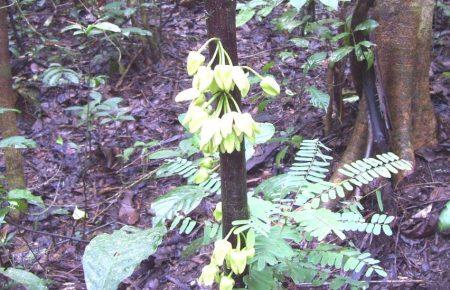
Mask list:
[{"label": "mid-sized ribbed pale green leaf just left of the flowering trunk", "polygon": [[155,213],[154,225],[170,220],[179,213],[188,215],[206,196],[208,192],[200,186],[183,185],[158,197],[151,205]]}]

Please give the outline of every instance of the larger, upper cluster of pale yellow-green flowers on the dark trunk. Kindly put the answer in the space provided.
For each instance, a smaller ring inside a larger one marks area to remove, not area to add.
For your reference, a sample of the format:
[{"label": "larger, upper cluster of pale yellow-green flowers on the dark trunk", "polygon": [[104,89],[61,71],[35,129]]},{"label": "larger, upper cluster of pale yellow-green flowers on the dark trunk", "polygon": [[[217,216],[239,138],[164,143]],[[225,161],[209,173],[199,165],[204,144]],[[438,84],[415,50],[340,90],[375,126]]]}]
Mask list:
[{"label": "larger, upper cluster of pale yellow-green flowers on the dark trunk", "polygon": [[[207,44],[216,41],[216,50],[210,62],[202,51]],[[217,65],[212,68],[214,61]],[[276,96],[280,86],[270,76],[262,77],[249,67],[235,66],[218,39],[210,39],[198,51],[191,51],[187,60],[187,72],[193,76],[192,87],[180,92],[175,101],[190,101],[189,109],[182,124],[190,133],[200,134],[200,149],[206,153],[220,151],[231,153],[241,150],[244,137],[250,141],[259,132],[256,123],[249,113],[242,113],[233,97],[237,88],[242,97],[250,91],[248,72],[258,76],[263,91]]]}]

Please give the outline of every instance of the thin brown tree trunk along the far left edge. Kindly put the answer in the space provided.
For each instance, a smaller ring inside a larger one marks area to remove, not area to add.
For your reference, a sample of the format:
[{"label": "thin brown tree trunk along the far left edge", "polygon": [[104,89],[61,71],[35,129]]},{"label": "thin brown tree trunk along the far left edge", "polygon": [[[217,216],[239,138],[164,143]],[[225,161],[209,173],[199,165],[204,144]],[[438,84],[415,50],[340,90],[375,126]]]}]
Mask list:
[{"label": "thin brown tree trunk along the far left edge", "polygon": [[[12,89],[6,10],[6,1],[0,0],[0,107],[12,109],[16,104],[16,94]],[[19,135],[15,112],[0,114],[0,132],[3,138]],[[3,152],[8,188],[25,188],[23,158],[20,151],[18,149],[5,148]]]}]

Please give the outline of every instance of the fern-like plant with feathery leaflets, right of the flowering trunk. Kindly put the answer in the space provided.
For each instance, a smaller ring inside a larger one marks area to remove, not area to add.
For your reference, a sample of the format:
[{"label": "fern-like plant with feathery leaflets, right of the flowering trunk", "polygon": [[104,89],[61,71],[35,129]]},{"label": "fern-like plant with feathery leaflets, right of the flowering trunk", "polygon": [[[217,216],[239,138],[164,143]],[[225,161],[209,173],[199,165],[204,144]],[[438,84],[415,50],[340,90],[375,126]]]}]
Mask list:
[{"label": "fern-like plant with feathery leaflets, right of the flowering trunk", "polygon": [[[399,170],[411,169],[411,165],[393,153],[380,154],[344,165],[339,171],[348,178],[335,184],[326,181],[332,161],[328,151],[319,140],[303,140],[287,173],[267,179],[249,193],[250,218],[235,221],[232,230],[232,234],[246,240],[250,233],[255,235],[251,250],[254,254],[245,256],[248,274],[244,281],[248,289],[278,289],[286,278],[296,284],[329,282],[332,289],[343,285],[367,288],[366,282],[353,280],[352,274],[387,276],[380,261],[370,253],[360,252],[350,241],[338,246],[328,242],[328,238],[335,236],[345,242],[349,232],[389,236],[394,217],[375,213],[365,220],[359,203],[359,207],[336,212],[323,205],[330,199],[344,199],[345,192],[355,186],[391,177]],[[227,263],[232,264],[233,257],[227,255]],[[212,263],[215,260],[213,257]],[[222,277],[238,274],[233,268],[224,269]],[[202,272],[201,282],[208,281],[207,274]]]}]

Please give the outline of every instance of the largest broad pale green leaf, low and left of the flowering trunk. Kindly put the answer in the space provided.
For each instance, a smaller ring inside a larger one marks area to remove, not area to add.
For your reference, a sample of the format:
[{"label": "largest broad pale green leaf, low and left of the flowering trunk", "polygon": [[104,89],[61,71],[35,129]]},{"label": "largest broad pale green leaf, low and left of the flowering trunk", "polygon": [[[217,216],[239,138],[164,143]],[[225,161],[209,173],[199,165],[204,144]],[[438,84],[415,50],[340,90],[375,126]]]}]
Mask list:
[{"label": "largest broad pale green leaf, low and left of the flowering trunk", "polygon": [[156,251],[165,232],[163,227],[141,230],[126,226],[92,239],[82,260],[87,289],[116,290],[142,260]]}]

